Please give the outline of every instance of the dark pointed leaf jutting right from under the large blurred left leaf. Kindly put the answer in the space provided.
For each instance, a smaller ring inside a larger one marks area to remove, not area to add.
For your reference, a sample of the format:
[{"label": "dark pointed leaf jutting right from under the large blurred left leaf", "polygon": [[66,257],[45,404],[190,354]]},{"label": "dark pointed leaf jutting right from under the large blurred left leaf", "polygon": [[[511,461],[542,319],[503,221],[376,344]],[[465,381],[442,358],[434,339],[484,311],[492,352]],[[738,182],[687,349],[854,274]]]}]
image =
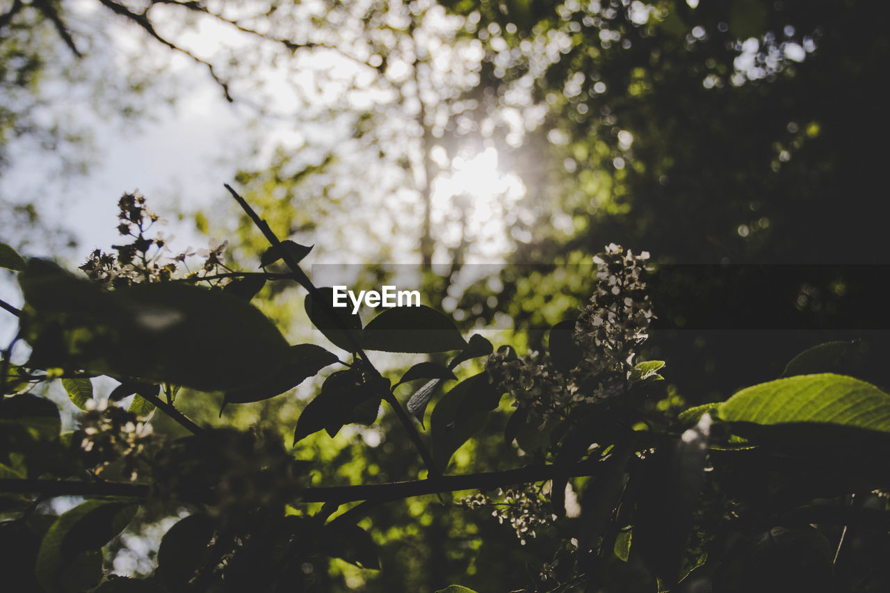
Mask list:
[{"label": "dark pointed leaf jutting right from under the large blurred left leaf", "polygon": [[225,394],[226,403],[259,402],[283,394],[317,374],[337,359],[320,345],[297,344],[290,347],[290,360],[258,380],[254,386],[234,389]]}]

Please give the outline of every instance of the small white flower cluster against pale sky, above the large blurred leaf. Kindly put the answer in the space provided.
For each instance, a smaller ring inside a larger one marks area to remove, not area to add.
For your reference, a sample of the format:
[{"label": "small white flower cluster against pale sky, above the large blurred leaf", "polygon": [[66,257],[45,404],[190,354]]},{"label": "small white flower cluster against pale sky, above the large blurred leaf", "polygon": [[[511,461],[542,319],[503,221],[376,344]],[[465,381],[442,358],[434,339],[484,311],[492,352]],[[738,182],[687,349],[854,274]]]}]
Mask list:
[{"label": "small white flower cluster against pale sky, above the large blurred leaf", "polygon": [[[214,244],[210,249],[197,252],[191,248],[178,255],[172,255],[168,244],[173,236],[157,232],[154,238],[146,237],[150,228],[166,221],[145,206],[145,198],[138,191],[125,193],[117,202],[117,232],[133,240],[125,245],[113,245],[117,256],[96,249],[80,269],[86,275],[105,287],[122,287],[141,282],[170,280],[187,257],[198,255],[205,258],[201,270],[205,274],[226,270],[222,262],[223,250],[227,242]],[[197,276],[197,272],[192,273]]]}]

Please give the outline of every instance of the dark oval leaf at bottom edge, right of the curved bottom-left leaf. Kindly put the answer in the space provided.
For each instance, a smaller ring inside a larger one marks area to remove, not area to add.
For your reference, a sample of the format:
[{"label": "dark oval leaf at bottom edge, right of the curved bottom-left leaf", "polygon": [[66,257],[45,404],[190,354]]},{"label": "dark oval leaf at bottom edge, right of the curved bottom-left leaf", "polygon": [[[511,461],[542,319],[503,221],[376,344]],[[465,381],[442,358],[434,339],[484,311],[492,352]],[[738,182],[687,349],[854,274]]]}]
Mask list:
[{"label": "dark oval leaf at bottom edge, right of the curved bottom-left leaf", "polygon": [[179,590],[210,561],[216,526],[206,515],[190,515],[174,524],[158,548],[158,575],[167,589]]}]

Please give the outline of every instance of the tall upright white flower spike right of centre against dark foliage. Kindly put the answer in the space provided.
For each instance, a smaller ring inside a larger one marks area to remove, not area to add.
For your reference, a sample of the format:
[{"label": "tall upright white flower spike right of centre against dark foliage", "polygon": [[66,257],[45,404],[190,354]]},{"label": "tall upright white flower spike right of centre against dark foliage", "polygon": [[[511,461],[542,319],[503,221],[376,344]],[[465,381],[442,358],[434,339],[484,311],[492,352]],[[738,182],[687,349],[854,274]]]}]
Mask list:
[{"label": "tall upright white flower spike right of centre against dark foliage", "polygon": [[632,376],[636,348],[649,337],[655,319],[643,272],[649,253],[638,256],[611,243],[594,257],[598,265],[590,304],[575,324],[575,342],[585,353],[580,372],[594,378],[595,389],[584,394],[588,402],[619,394]]}]

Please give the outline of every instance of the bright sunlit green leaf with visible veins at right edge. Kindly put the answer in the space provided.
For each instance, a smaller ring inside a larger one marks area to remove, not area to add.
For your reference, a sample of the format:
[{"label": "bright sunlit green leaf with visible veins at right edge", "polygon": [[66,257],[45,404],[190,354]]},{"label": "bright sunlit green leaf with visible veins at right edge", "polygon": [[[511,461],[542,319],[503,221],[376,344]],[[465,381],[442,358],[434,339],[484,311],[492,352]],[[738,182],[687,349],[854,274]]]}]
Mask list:
[{"label": "bright sunlit green leaf with visible veins at right edge", "polygon": [[824,423],[890,432],[890,395],[865,381],[822,373],[747,387],[717,406],[727,422]]}]

